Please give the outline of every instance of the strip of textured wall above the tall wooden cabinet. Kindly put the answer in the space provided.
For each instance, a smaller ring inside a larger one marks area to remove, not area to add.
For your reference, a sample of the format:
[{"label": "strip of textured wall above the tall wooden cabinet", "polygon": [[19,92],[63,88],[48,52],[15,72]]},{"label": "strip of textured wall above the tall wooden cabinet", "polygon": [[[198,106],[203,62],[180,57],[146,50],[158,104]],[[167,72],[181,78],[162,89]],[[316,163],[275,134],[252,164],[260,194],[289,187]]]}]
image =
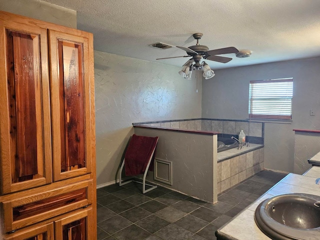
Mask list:
[{"label": "strip of textured wall above the tall wooden cabinet", "polygon": [[76,28],[76,11],[40,0],[0,0],[0,10]]}]

